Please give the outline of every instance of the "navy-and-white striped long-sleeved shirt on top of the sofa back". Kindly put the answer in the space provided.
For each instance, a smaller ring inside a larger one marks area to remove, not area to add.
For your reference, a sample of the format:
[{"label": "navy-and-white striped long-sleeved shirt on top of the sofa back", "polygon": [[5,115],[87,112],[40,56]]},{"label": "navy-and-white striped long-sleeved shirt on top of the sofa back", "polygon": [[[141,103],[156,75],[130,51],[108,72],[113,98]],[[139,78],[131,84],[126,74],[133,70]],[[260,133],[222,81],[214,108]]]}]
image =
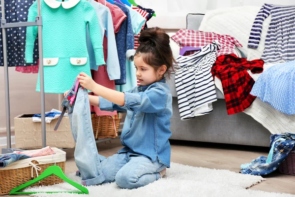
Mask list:
[{"label": "navy-and-white striped long-sleeved shirt on top of the sofa back", "polygon": [[248,41],[249,48],[257,48],[261,39],[264,20],[271,15],[261,57],[265,63],[295,60],[295,5],[264,4],[258,12]]}]

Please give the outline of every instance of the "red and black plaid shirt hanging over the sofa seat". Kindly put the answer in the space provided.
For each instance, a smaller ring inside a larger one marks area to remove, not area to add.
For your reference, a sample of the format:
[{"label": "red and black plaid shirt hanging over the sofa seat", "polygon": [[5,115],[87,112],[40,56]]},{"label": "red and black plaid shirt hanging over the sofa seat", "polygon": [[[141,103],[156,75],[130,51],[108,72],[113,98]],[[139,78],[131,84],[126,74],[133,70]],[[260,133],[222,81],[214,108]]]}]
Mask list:
[{"label": "red and black plaid shirt hanging over the sofa seat", "polygon": [[256,97],[250,95],[255,83],[247,72],[261,73],[263,60],[247,61],[235,54],[223,55],[216,59],[211,72],[221,80],[228,115],[244,111]]}]

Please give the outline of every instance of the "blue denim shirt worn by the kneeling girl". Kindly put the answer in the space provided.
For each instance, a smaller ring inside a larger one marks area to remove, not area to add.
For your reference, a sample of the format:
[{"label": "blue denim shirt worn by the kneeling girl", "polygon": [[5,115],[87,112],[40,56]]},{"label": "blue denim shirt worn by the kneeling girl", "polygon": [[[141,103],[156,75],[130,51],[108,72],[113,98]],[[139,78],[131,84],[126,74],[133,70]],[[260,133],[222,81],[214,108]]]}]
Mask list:
[{"label": "blue denim shirt worn by the kneeling girl", "polygon": [[125,93],[125,104],[119,106],[99,97],[101,110],[126,110],[127,115],[121,133],[124,146],[118,153],[145,156],[152,162],[170,167],[169,143],[172,96],[165,79],[149,86],[138,86]]}]

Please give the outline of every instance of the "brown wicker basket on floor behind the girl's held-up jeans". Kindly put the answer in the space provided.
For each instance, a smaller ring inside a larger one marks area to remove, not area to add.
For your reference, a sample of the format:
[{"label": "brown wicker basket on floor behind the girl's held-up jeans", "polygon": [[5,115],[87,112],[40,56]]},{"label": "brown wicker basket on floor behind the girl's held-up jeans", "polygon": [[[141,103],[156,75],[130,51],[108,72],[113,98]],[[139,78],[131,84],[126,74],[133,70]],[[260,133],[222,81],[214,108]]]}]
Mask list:
[{"label": "brown wicker basket on floor behind the girl's held-up jeans", "polygon": [[91,114],[94,138],[116,138],[118,136],[121,118],[122,113],[112,116]]}]

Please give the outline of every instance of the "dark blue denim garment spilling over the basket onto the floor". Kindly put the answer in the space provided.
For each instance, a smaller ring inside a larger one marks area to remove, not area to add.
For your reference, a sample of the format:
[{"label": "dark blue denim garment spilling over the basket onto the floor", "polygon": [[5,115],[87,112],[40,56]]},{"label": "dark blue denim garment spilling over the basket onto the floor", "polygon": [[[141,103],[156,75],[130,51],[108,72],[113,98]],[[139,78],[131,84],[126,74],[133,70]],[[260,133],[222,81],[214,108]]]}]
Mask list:
[{"label": "dark blue denim garment spilling over the basket onto the floor", "polygon": [[288,157],[295,146],[295,134],[282,133],[270,136],[270,152],[268,157],[258,157],[250,164],[244,164],[240,171],[243,174],[265,175],[276,170]]}]

